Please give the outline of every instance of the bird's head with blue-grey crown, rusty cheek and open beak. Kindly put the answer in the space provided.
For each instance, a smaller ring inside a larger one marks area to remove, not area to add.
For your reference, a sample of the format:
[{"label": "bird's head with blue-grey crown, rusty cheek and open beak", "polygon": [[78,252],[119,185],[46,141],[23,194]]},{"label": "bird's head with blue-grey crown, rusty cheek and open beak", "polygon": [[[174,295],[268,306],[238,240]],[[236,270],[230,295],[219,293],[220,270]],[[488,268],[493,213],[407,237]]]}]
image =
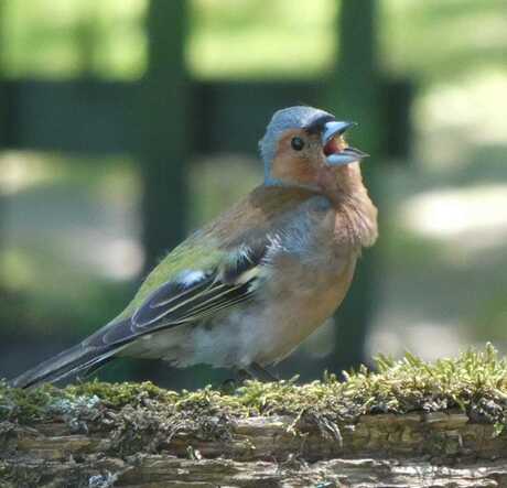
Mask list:
[{"label": "bird's head with blue-grey crown, rusty cheek and open beak", "polygon": [[353,126],[354,122],[336,120],[313,107],[278,110],[259,142],[265,184],[319,188],[330,181],[339,183],[350,163],[367,156],[344,139],[345,131]]}]

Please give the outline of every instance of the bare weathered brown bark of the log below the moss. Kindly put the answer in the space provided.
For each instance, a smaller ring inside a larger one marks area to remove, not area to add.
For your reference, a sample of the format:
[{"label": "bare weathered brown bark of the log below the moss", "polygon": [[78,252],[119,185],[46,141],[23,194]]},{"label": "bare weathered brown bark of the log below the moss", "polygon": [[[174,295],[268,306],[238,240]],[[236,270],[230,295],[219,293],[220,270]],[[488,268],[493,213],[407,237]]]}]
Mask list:
[{"label": "bare weathered brown bark of the log below the moss", "polygon": [[0,486],[507,486],[507,435],[457,411],[337,423],[216,411],[179,423],[162,404],[88,400],[1,422]]}]

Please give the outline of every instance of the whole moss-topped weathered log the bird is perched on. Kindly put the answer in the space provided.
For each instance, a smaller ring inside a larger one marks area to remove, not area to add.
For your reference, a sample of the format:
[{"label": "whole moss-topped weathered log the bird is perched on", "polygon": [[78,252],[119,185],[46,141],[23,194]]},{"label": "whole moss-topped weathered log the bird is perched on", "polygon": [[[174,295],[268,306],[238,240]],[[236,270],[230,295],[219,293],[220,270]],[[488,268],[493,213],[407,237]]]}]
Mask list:
[{"label": "whole moss-topped weathered log the bird is perched on", "polygon": [[229,393],[0,383],[0,486],[507,486],[504,360],[378,366]]}]

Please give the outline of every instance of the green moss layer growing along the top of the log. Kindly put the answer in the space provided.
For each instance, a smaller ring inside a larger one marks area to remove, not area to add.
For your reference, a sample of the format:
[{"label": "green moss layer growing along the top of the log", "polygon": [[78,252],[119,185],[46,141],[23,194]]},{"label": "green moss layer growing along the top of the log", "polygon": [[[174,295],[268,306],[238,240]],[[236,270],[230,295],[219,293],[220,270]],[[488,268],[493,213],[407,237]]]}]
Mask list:
[{"label": "green moss layer growing along the top of the log", "polygon": [[61,415],[77,408],[82,412],[83,405],[89,411],[95,405],[89,403],[90,399],[115,411],[163,411],[169,424],[180,422],[191,429],[197,429],[199,420],[205,422],[217,416],[301,415],[304,412],[335,422],[354,420],[362,414],[449,409],[462,410],[473,421],[503,425],[507,415],[507,362],[490,345],[484,350],[471,349],[457,358],[433,364],[410,354],[401,360],[380,356],[376,371],[362,367],[347,373],[345,381],[332,375],[308,384],[296,384],[294,380],[248,381],[230,394],[209,387],[174,392],[150,382],[89,382],[63,390],[43,387],[28,392],[0,383],[0,420],[30,423],[55,412]]}]

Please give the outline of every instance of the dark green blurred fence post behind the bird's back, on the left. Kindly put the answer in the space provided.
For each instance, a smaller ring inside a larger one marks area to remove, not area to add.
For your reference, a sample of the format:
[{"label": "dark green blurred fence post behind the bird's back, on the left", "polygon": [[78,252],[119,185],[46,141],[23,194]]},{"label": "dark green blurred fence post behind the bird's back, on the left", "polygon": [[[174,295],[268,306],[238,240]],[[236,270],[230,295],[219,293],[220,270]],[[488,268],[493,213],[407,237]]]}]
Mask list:
[{"label": "dark green blurred fence post behind the bird's back, on the left", "polygon": [[148,69],[134,120],[143,182],[147,269],[179,242],[186,223],[186,1],[151,0],[148,9]]}]

